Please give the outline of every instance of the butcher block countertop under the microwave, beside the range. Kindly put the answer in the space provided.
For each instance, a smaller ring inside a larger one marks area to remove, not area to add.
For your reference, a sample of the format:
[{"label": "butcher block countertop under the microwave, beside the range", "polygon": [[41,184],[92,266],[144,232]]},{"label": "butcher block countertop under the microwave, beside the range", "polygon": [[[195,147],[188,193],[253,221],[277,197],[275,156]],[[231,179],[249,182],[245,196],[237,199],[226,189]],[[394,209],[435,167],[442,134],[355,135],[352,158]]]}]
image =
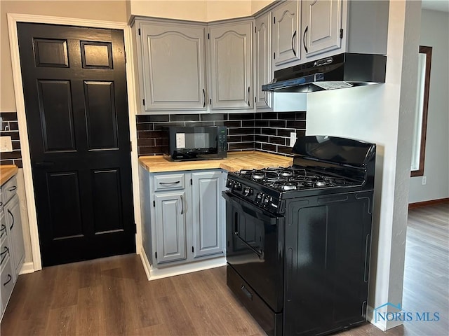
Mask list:
[{"label": "butcher block countertop under the microwave, beside the range", "polygon": [[262,169],[266,167],[288,167],[293,158],[258,151],[229,152],[227,158],[219,160],[171,162],[158,156],[141,156],[140,165],[150,173],[179,172],[197,169],[225,169],[236,172],[240,169]]}]

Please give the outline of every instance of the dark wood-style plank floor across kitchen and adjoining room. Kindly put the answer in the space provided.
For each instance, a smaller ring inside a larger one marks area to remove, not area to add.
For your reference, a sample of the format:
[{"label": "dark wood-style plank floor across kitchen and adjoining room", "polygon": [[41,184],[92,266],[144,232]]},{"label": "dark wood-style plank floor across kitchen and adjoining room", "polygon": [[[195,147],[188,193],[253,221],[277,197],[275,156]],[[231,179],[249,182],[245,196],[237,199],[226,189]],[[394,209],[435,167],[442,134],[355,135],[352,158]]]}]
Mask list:
[{"label": "dark wood-style plank floor across kitchen and adjoining room", "polygon": [[[449,206],[410,210],[403,308],[438,322],[339,336],[448,335]],[[19,276],[1,335],[264,335],[228,290],[225,267],[147,281],[138,255],[48,267]]]}]

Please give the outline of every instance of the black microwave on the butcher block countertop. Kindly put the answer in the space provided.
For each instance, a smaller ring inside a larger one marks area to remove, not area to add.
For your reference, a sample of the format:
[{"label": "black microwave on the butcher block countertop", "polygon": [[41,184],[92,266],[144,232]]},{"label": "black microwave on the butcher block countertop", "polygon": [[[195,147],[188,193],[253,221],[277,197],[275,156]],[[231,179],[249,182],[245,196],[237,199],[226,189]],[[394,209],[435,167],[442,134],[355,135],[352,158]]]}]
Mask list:
[{"label": "black microwave on the butcher block countertop", "polygon": [[212,160],[227,157],[225,126],[168,127],[168,153],[173,161]]}]

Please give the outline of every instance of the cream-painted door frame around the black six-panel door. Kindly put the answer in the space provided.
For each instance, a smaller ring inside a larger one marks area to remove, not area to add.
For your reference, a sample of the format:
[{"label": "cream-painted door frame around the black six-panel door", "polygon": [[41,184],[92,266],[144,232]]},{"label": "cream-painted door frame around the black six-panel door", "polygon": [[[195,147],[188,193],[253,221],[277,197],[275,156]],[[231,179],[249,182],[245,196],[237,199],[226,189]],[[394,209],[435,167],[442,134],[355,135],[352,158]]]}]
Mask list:
[{"label": "cream-painted door frame around the black six-panel door", "polygon": [[[78,18],[62,18],[45,15],[29,15],[19,13],[8,13],[8,34],[9,48],[11,52],[11,63],[13,68],[15,108],[19,125],[20,148],[22,151],[22,169],[25,179],[25,198],[27,200],[27,212],[29,222],[29,235],[31,240],[32,262],[26,262],[22,267],[22,272],[34,272],[42,269],[41,248],[39,246],[39,232],[37,229],[36,204],[34,199],[34,184],[31,167],[31,157],[29,154],[29,141],[27,132],[27,118],[25,115],[25,99],[23,95],[22,70],[20,68],[20,55],[18,43],[18,22],[42,23],[53,25],[92,27],[105,29],[119,29],[123,31],[125,52],[126,52],[126,88],[128,91],[128,118],[131,141],[131,174],[133,182],[133,204],[134,221],[136,224],[135,251],[142,253],[142,230],[140,221],[140,192],[139,192],[139,164],[137,131],[135,125],[135,111],[137,111],[135,69],[133,62],[133,35],[131,28],[126,22],[112,22],[99,20],[85,20]],[[27,256],[25,256],[26,258]],[[29,265],[32,264],[32,265]]]}]

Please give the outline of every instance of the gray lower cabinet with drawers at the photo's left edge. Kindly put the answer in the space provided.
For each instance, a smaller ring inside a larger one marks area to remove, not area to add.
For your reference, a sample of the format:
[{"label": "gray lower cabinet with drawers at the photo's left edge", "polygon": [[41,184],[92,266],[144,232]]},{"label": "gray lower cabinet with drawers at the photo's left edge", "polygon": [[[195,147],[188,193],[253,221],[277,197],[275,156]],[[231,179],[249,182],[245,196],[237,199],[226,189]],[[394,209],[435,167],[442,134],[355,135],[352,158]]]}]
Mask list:
[{"label": "gray lower cabinet with drawers at the photo's left edge", "polygon": [[20,203],[17,179],[12,177],[1,186],[0,195],[0,286],[1,317],[3,317],[9,297],[13,293],[15,281],[25,260],[25,247],[20,219]]}]

